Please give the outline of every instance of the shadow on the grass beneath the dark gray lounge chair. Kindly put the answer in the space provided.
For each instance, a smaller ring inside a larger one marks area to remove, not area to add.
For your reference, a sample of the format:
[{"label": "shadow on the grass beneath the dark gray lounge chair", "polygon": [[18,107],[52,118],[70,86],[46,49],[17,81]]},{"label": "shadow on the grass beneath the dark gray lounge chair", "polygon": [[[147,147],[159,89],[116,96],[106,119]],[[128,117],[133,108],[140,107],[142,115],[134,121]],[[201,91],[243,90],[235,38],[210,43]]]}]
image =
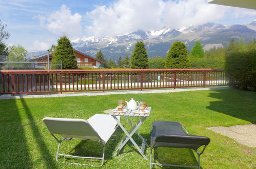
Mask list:
[{"label": "shadow on the grass beneath the dark gray lounge chair", "polygon": [[[191,149],[178,149],[169,147],[155,147],[153,150],[152,162],[162,164],[174,164],[174,165],[198,165],[198,160],[193,154]],[[152,165],[154,168],[155,165]],[[191,168],[191,167],[177,167],[158,165],[162,168]]]}]

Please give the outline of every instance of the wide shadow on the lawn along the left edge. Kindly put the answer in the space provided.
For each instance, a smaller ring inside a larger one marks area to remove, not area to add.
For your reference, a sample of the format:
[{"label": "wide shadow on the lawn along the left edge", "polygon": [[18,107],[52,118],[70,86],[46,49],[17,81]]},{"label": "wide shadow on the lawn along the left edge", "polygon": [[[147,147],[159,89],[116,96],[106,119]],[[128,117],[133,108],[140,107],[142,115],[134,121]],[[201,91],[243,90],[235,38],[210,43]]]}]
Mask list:
[{"label": "wide shadow on the lawn along the left edge", "polygon": [[0,138],[0,168],[32,168],[24,124],[15,99],[1,100]]}]

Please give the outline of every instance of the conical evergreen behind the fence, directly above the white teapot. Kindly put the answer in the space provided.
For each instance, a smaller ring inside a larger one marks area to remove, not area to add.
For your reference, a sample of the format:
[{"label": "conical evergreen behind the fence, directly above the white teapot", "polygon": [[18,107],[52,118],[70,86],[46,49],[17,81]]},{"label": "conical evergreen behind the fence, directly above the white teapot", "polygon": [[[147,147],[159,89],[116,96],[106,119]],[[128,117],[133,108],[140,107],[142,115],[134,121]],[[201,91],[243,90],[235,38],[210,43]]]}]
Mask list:
[{"label": "conical evergreen behind the fence, directly above the white teapot", "polygon": [[148,68],[148,54],[143,41],[138,41],[135,44],[131,56],[132,69],[147,69]]}]

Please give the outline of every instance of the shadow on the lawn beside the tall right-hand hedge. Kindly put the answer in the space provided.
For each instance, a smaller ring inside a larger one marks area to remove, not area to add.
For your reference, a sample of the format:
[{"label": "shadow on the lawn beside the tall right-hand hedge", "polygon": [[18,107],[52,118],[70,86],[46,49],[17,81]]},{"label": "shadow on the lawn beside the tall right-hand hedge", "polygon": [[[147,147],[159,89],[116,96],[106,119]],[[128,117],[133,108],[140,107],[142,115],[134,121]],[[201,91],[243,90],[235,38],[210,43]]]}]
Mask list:
[{"label": "shadow on the lawn beside the tall right-hand hedge", "polygon": [[209,110],[224,113],[242,120],[256,122],[256,92],[242,90],[216,90],[209,97],[221,99],[212,101]]}]

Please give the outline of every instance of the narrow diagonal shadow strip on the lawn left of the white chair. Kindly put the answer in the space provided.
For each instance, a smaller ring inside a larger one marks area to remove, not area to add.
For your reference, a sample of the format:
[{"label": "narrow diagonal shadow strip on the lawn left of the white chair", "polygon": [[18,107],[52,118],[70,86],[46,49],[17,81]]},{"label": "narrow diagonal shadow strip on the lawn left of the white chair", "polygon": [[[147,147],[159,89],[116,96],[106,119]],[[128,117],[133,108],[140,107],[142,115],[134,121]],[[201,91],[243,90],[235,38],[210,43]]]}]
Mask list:
[{"label": "narrow diagonal shadow strip on the lawn left of the white chair", "polygon": [[[21,99],[22,105],[23,105],[23,109],[25,111],[25,114],[27,116],[28,122],[30,125],[30,128],[32,130],[32,135],[34,137],[34,139],[36,140],[36,144],[38,147],[38,150],[40,151],[41,160],[44,160],[45,164],[46,164],[46,168],[56,168],[56,163],[55,161],[52,159],[52,155],[49,153],[48,147],[40,133],[40,131],[38,130],[38,126],[35,123],[35,120],[28,108],[28,105],[26,104],[24,99]],[[36,113],[36,112],[33,112]]]}]

